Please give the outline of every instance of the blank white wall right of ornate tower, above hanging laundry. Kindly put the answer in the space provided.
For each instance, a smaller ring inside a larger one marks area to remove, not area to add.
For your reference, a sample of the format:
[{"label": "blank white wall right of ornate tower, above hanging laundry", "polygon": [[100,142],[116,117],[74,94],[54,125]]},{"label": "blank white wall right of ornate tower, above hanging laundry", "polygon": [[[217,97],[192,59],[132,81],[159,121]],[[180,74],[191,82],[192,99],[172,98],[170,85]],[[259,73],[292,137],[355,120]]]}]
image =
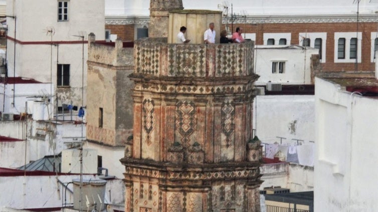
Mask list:
[{"label": "blank white wall right of ornate tower, above hanging laundry", "polygon": [[[256,107],[257,105],[257,107]],[[262,142],[296,143],[315,140],[313,95],[258,95],[254,101],[253,124]]]}]

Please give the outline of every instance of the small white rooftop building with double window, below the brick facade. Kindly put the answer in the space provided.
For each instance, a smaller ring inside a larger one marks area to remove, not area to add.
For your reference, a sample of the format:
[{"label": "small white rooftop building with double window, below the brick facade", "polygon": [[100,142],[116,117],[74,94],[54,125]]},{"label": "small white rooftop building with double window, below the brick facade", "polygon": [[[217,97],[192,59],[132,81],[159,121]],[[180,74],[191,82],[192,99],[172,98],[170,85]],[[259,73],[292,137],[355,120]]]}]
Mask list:
[{"label": "small white rooftop building with double window, below the brick facade", "polygon": [[[311,54],[318,49],[269,47],[258,45],[255,48],[255,73],[260,78],[255,85],[266,85],[268,81],[282,84],[311,83]],[[272,73],[272,62],[284,61],[284,73]]]}]

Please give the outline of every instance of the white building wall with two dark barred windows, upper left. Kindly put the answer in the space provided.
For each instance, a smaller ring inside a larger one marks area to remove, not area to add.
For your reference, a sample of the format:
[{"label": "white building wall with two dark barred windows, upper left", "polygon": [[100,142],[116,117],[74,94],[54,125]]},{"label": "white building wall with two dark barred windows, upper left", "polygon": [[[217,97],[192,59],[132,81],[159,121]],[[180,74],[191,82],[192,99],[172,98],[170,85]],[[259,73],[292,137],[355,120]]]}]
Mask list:
[{"label": "white building wall with two dark barred windows, upper left", "polygon": [[[19,41],[15,48],[14,40],[8,39],[8,71],[9,76],[31,77],[42,82],[52,82],[56,86],[57,63],[70,64],[70,88],[61,93],[63,96],[59,98],[67,103],[73,100],[74,104],[81,105],[82,87],[84,90],[86,87],[88,34],[93,32],[97,40],[105,39],[104,1],[68,2],[69,20],[58,21],[57,1],[7,1],[7,15],[16,16],[7,17],[8,35]],[[84,50],[82,37],[78,36],[84,36]],[[51,46],[51,42],[59,44]],[[84,105],[85,96],[86,92]]]}]

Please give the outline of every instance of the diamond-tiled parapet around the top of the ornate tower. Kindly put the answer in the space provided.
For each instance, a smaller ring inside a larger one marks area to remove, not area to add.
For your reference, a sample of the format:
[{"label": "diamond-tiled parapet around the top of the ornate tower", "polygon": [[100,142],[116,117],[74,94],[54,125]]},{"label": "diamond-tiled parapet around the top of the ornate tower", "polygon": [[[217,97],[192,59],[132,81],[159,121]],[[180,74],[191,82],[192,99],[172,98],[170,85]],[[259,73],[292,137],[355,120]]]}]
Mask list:
[{"label": "diamond-tiled parapet around the top of the ornate tower", "polygon": [[145,38],[134,45],[134,73],[153,76],[222,77],[253,74],[254,41],[172,44]]}]

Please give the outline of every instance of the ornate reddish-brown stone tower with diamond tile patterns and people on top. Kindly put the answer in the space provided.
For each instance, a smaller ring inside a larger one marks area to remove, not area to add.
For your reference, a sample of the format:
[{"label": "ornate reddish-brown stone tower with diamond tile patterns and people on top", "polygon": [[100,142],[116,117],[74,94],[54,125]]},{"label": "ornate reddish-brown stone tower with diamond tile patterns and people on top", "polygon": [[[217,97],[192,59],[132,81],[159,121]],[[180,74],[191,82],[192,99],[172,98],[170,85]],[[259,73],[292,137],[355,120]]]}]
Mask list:
[{"label": "ornate reddish-brown stone tower with diamond tile patterns and people on top", "polygon": [[260,211],[253,47],[135,41],[125,211]]}]

